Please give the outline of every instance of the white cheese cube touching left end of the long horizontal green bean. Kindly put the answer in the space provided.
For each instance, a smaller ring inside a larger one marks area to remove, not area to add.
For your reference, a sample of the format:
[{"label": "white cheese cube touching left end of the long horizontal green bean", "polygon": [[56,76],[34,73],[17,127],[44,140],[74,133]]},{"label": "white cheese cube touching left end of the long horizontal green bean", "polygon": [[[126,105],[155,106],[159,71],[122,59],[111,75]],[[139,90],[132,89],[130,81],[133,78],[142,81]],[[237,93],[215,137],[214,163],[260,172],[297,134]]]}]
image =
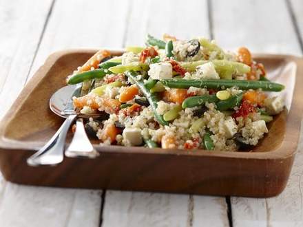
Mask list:
[{"label": "white cheese cube touching left end of the long horizontal green bean", "polygon": [[173,77],[173,67],[169,63],[151,64],[148,74],[154,80],[169,79]]}]

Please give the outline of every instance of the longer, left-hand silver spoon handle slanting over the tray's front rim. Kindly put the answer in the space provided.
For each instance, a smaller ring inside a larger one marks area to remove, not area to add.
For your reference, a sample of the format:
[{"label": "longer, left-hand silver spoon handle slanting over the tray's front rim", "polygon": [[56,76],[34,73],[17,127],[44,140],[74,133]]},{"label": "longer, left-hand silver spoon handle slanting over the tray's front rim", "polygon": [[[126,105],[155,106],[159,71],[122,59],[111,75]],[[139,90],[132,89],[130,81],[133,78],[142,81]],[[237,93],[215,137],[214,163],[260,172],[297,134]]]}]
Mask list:
[{"label": "longer, left-hand silver spoon handle slanting over the tray's front rim", "polygon": [[54,133],[54,136],[34,155],[28,158],[27,162],[30,166],[53,165],[59,164],[64,158],[65,139],[70,125],[74,122],[76,114],[72,114],[66,118],[61,127]]}]

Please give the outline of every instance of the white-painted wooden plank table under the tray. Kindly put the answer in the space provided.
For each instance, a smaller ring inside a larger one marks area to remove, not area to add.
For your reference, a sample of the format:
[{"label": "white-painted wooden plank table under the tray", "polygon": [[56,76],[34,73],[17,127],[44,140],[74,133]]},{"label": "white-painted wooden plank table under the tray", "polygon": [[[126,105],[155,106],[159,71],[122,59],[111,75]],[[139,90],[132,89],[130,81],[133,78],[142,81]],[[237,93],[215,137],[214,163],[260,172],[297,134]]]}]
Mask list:
[{"label": "white-painted wooden plank table under the tray", "polygon": [[[206,36],[228,49],[303,53],[301,0],[1,0],[0,117],[56,50]],[[302,75],[303,76],[303,75]],[[303,144],[278,197],[209,197],[22,186],[0,176],[0,226],[303,226]]]}]

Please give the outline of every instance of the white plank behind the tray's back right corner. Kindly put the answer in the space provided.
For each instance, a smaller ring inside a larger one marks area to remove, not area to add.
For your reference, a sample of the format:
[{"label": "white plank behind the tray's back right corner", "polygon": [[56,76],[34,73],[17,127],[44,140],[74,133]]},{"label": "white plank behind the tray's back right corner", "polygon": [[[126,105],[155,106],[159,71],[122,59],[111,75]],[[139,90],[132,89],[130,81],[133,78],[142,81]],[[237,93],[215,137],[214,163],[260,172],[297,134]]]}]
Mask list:
[{"label": "white plank behind the tray's back right corner", "polygon": [[216,0],[213,34],[228,50],[247,46],[252,52],[301,54],[284,0]]}]

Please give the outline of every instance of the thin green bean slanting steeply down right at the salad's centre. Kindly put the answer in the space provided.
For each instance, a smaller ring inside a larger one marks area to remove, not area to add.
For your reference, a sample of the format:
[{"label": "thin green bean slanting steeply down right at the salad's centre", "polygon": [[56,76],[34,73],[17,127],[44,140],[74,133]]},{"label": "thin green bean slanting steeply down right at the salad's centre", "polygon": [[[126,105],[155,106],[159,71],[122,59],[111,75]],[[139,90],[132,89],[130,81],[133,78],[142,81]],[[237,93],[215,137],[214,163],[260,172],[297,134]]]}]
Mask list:
[{"label": "thin green bean slanting steeply down right at the salad's centre", "polygon": [[142,80],[138,80],[136,78],[136,76],[138,75],[138,73],[134,72],[134,71],[129,71],[126,72],[125,74],[127,77],[131,78],[132,80],[134,80],[134,83],[136,83],[137,87],[140,89],[140,91],[143,92],[143,94],[145,95],[145,97],[147,98],[147,100],[149,101],[149,104],[151,105],[151,108],[154,111],[154,116],[156,117],[156,119],[158,120],[158,122],[160,123],[160,125],[168,125],[169,123],[163,119],[163,116],[158,114],[158,112],[156,111],[157,107],[158,107],[158,98],[156,96],[156,94],[153,94],[149,91],[149,89],[147,89],[144,86],[144,83]]}]

